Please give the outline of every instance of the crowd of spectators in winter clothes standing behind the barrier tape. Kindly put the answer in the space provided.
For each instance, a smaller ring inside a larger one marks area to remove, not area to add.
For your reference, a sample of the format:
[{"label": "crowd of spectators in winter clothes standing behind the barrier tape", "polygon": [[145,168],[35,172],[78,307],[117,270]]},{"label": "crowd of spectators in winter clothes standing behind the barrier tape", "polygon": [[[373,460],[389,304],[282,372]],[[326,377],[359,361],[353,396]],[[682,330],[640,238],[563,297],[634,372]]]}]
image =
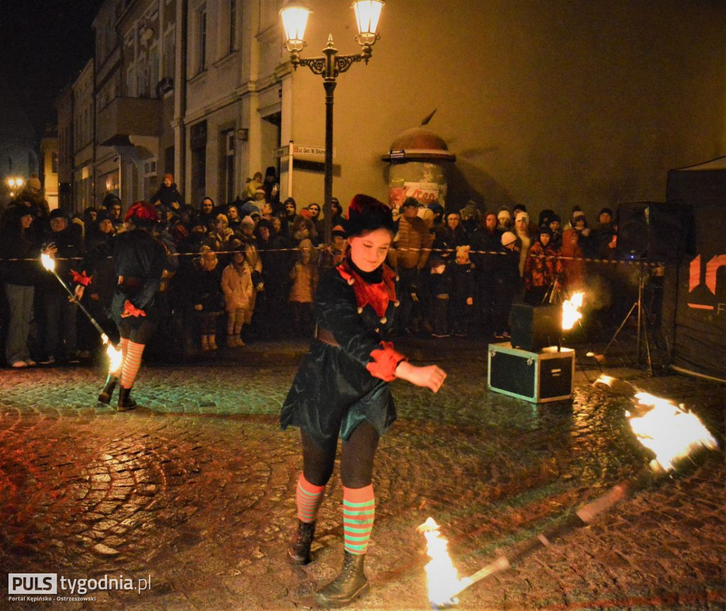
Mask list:
[{"label": "crowd of spectators in winter clothes standing behind the barrier tape", "polygon": [[[234,202],[217,205],[203,197],[188,205],[174,176],[163,176],[150,198],[160,217],[155,237],[168,253],[159,295],[168,316],[160,333],[183,341],[183,353],[313,332],[318,279],[346,253],[343,208],[333,200],[331,240],[325,244],[322,206],[298,205],[292,197],[281,202],[279,191],[274,168],[268,168],[264,176],[248,179],[244,196]],[[38,253],[45,250],[56,259],[58,277],[72,290],[86,255],[124,230],[123,212],[131,203],[109,193],[97,207],[70,217],[51,212],[39,181],[30,179],[3,211],[0,274],[8,366],[72,364],[98,348],[97,332],[39,265]],[[583,258],[615,255],[608,208],[600,210],[593,229],[579,208],[565,223],[552,210],[543,210],[535,223],[523,205],[482,211],[469,202],[454,211],[412,197],[395,212],[388,263],[399,275],[397,334],[473,333],[507,340],[515,300],[537,305],[553,290],[576,290],[584,284]],[[105,314],[117,282],[113,264],[100,261],[89,275],[93,281],[82,303],[113,337]],[[224,340],[218,343],[219,335]]]}]

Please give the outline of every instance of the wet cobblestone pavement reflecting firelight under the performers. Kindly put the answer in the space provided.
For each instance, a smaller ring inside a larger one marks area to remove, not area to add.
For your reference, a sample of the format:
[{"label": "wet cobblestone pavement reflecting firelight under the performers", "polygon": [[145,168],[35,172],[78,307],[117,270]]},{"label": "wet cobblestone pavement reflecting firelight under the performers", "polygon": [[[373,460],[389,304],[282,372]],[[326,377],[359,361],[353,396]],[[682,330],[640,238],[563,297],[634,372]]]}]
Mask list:
[{"label": "wet cobblestone pavement reflecting firelight under the performers", "polygon": [[[572,401],[534,406],[486,390],[481,345],[438,345],[449,372],[438,395],[393,385],[399,421],[375,469],[372,591],[354,609],[431,609],[415,530],[427,517],[468,575],[646,462],[624,418],[628,396],[590,385],[594,369],[578,369]],[[409,354],[431,362],[437,344],[427,346]],[[301,456],[298,432],[280,432],[277,414],[304,345],[245,350],[144,365],[140,407],[123,414],[96,403],[99,367],[0,370],[2,572],[151,584],[85,602],[11,601],[3,586],[0,608],[315,607],[342,557],[342,491],[334,479],[314,562],[288,565]],[[724,385],[608,373],[685,402],[722,447]],[[591,526],[463,591],[458,608],[726,609],[725,467],[722,451],[702,451]]]}]

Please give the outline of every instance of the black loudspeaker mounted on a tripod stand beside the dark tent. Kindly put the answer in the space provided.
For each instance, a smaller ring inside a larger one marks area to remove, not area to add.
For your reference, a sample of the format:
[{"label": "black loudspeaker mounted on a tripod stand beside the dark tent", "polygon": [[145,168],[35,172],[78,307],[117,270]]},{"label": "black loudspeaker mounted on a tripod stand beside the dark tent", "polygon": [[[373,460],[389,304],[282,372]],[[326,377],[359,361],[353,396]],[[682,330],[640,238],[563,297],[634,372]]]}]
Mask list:
[{"label": "black loudspeaker mounted on a tripod stand beside the dark tent", "polygon": [[618,207],[621,259],[678,263],[692,250],[693,213],[677,202],[627,202]]}]

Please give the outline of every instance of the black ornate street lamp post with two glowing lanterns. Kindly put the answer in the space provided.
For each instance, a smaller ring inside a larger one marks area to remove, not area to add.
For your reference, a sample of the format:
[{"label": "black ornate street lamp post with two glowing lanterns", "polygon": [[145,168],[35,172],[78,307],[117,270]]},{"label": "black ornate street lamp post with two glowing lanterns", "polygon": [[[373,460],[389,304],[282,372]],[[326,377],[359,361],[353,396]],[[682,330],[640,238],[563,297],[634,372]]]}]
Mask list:
[{"label": "black ornate street lamp post with two glowing lanterns", "polygon": [[368,63],[372,55],[372,46],[380,38],[378,20],[385,0],[354,0],[353,9],[356,15],[358,36],[356,41],[362,47],[357,55],[338,55],[333,44],[333,36],[327,38],[327,45],[322,50],[324,57],[302,58],[300,52],[306,46],[305,28],[311,10],[299,0],[290,0],[280,11],[282,25],[285,28],[285,48],[290,52],[290,63],[295,70],[298,66],[307,66],[311,72],[322,75],[325,87],[325,243],[330,243],[331,202],[333,200],[333,92],[335,91],[338,74],[346,72],[355,62]]}]

